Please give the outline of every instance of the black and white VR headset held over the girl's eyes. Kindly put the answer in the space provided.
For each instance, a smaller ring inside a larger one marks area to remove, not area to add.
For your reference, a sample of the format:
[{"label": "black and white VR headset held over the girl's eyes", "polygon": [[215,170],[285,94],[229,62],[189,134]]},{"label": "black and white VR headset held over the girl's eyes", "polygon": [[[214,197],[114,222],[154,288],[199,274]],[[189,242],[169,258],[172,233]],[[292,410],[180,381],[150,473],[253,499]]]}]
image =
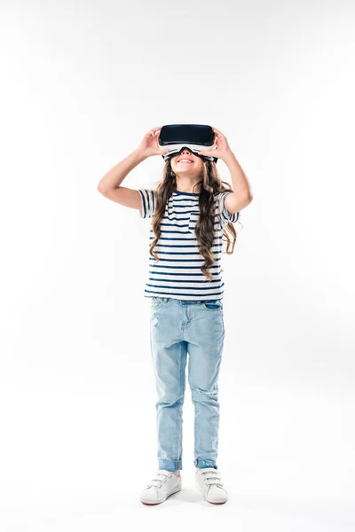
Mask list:
[{"label": "black and white VR headset held over the girl's eyes", "polygon": [[197,124],[169,124],[162,126],[159,134],[159,145],[168,148],[169,153],[162,154],[164,161],[170,160],[181,153],[184,148],[188,148],[193,155],[201,157],[202,160],[214,160],[217,157],[200,155],[200,151],[210,150],[215,144],[215,132],[211,126]]}]

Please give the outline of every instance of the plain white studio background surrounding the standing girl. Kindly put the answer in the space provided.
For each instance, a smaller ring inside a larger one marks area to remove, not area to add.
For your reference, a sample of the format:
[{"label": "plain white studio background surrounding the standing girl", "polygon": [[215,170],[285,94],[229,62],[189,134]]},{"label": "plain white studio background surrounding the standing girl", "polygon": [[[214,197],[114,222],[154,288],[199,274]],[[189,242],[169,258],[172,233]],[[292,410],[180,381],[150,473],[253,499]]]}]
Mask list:
[{"label": "plain white studio background surrounding the standing girl", "polygon": [[[353,529],[354,4],[18,1],[1,19],[2,530]],[[97,185],[168,123],[220,129],[254,196],[223,259],[220,506],[194,487],[188,385],[183,489],[138,500],[157,471],[149,221]]]}]

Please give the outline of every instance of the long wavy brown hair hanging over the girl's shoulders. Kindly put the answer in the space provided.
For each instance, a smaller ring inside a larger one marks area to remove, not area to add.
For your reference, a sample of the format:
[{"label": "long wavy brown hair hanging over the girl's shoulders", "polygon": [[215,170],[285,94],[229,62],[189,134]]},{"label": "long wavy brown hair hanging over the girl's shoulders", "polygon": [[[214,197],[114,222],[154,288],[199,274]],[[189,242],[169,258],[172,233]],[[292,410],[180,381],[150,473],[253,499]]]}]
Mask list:
[{"label": "long wavy brown hair hanging over the girl's shoulders", "polygon": [[[226,185],[226,186],[225,186]],[[232,189],[222,181],[219,176],[216,162],[211,160],[203,161],[203,168],[201,170],[201,179],[195,184],[197,190],[200,190],[199,196],[199,206],[200,206],[200,218],[196,222],[195,233],[197,238],[197,246],[205,262],[201,266],[201,272],[209,278],[209,281],[212,280],[212,274],[208,269],[214,264],[216,256],[211,251],[214,240],[214,223],[215,223],[215,201],[214,194],[217,192],[233,192]],[[171,168],[170,160],[165,163],[163,168],[163,177],[162,182],[158,184],[157,188],[154,190],[154,200],[155,200],[155,209],[154,217],[152,220],[152,228],[154,231],[154,240],[149,247],[149,253],[159,261],[159,256],[154,252],[154,247],[156,246],[158,240],[161,237],[161,221],[165,214],[165,207],[170,198],[171,193],[177,188],[177,179],[176,175]],[[232,240],[228,235],[229,231],[232,234]],[[225,237],[225,240],[223,239]],[[237,239],[237,233],[233,227],[233,223],[227,223],[225,225],[222,244],[223,242],[227,243],[225,253],[233,254],[234,245]],[[230,250],[230,246],[232,249]],[[223,271],[223,270],[221,270]]]}]

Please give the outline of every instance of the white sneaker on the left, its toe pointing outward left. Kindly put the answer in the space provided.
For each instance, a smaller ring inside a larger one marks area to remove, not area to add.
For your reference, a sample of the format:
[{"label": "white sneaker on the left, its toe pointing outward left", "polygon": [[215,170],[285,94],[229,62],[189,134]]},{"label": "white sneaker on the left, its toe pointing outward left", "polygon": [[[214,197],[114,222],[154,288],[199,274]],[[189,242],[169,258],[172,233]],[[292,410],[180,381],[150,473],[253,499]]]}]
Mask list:
[{"label": "white sneaker on the left, its toe pointing outward left", "polygon": [[180,472],[173,473],[166,469],[160,469],[156,473],[153,481],[146,485],[140,494],[139,500],[144,505],[160,505],[170,495],[180,491],[181,475]]}]

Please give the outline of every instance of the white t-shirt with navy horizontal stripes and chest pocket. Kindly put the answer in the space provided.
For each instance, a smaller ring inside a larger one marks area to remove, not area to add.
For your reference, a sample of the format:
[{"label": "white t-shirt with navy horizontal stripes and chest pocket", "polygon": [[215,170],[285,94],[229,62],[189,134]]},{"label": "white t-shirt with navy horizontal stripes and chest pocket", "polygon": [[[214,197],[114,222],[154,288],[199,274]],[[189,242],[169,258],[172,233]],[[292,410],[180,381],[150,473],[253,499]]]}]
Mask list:
[{"label": "white t-shirt with navy horizontal stripes and chest pocket", "polygon": [[[152,218],[155,198],[151,189],[138,189],[142,207],[141,218]],[[209,268],[211,281],[201,272],[205,259],[200,254],[194,227],[199,220],[199,193],[175,190],[165,207],[161,221],[162,235],[154,247],[160,260],[155,261],[149,253],[149,277],[146,282],[145,297],[170,297],[185,301],[217,300],[223,298],[225,285],[221,276],[222,233],[226,223],[235,223],[240,213],[230,213],[225,207],[225,198],[231,192],[218,192],[212,252],[216,262]],[[151,227],[149,246],[154,240]],[[149,249],[148,246],[148,249]]]}]

